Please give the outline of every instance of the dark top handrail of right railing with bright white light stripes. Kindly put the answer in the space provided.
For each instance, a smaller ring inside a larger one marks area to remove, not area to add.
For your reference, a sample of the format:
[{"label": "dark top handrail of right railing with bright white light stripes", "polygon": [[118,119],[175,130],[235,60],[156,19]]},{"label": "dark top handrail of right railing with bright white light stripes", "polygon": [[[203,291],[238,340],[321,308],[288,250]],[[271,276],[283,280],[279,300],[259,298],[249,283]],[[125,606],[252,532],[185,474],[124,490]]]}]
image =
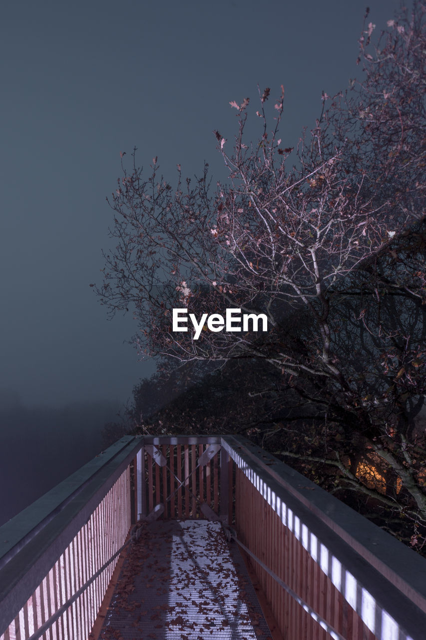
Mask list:
[{"label": "dark top handrail of right railing with bright white light stripes", "polygon": [[426,559],[246,438],[222,444],[377,637],[423,637]]}]

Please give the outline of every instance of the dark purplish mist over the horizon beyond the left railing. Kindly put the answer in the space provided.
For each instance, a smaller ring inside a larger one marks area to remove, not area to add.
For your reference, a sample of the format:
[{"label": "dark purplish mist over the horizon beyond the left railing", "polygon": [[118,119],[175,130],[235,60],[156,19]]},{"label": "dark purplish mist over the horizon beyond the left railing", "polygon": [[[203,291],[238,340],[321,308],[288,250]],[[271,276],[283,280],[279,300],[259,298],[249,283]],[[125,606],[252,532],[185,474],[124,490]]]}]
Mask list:
[{"label": "dark purplish mist over the horizon beyond the left railing", "polygon": [[23,406],[0,397],[0,526],[102,451],[102,428],[117,404]]}]

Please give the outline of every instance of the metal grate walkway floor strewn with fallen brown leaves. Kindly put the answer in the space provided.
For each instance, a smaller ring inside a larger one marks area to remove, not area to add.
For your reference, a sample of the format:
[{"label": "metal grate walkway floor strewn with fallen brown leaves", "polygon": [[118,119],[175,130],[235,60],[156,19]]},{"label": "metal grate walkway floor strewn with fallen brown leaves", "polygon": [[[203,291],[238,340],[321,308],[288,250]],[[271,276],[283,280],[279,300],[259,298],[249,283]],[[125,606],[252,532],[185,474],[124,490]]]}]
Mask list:
[{"label": "metal grate walkway floor strewn with fallen brown leaves", "polygon": [[271,640],[237,545],[219,522],[143,525],[99,640]]}]

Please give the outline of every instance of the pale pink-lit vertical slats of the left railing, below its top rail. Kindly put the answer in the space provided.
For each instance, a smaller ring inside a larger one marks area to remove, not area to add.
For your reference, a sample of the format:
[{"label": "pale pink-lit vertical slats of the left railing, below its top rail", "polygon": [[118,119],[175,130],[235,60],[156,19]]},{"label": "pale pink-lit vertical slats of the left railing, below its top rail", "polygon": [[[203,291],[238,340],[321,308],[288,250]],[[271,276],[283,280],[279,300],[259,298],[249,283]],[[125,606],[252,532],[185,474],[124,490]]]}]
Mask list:
[{"label": "pale pink-lit vertical slats of the left railing, below its top rail", "polygon": [[[107,517],[108,504],[116,505],[109,511],[111,517]],[[24,603],[0,640],[15,637],[35,639],[43,634],[49,640],[86,640],[119,554],[114,552],[113,559],[104,566],[105,538],[111,539],[111,550],[116,550],[129,529],[130,470],[127,467]],[[84,583],[88,584],[82,589]]]}]

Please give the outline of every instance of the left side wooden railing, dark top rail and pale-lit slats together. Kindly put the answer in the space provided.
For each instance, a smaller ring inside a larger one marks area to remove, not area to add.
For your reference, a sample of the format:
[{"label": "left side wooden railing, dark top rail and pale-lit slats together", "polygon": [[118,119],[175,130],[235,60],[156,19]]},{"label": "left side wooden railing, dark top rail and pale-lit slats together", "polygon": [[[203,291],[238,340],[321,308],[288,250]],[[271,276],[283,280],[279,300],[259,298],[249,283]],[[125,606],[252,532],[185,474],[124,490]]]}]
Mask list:
[{"label": "left side wooden railing, dark top rail and pale-lit slats together", "polygon": [[[139,449],[140,439],[122,438],[0,528],[0,640],[33,636],[122,547]],[[116,561],[56,616],[43,640],[87,640]]]}]

